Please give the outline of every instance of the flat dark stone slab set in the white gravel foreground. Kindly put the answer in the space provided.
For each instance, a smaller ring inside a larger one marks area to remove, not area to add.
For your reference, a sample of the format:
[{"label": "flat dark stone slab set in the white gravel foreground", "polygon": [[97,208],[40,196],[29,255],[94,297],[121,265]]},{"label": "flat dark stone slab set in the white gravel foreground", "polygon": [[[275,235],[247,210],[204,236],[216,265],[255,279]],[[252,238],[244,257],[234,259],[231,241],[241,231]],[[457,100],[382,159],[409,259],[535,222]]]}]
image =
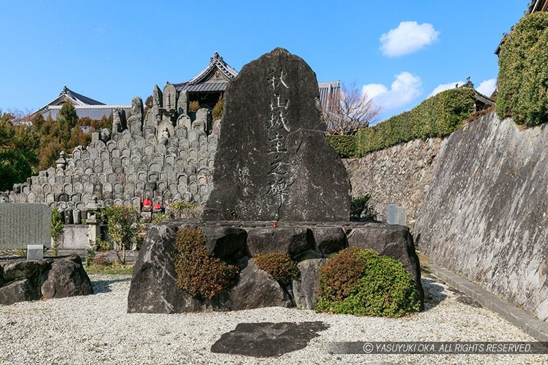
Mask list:
[{"label": "flat dark stone slab set in the white gravel foreground", "polygon": [[239,323],[236,329],[223,333],[211,347],[213,353],[253,357],[273,357],[304,349],[312,338],[325,331],[323,322]]}]

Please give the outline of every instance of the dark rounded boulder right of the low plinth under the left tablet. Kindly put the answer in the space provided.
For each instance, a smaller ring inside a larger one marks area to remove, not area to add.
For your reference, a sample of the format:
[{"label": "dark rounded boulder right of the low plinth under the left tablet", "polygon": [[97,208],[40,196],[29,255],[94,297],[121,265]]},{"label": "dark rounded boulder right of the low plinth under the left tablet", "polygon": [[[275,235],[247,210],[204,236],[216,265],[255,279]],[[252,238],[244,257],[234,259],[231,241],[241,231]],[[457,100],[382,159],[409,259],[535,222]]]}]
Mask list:
[{"label": "dark rounded boulder right of the low plinth under the left tablet", "polygon": [[42,296],[45,299],[93,294],[90,278],[82,263],[54,260],[44,273]]}]

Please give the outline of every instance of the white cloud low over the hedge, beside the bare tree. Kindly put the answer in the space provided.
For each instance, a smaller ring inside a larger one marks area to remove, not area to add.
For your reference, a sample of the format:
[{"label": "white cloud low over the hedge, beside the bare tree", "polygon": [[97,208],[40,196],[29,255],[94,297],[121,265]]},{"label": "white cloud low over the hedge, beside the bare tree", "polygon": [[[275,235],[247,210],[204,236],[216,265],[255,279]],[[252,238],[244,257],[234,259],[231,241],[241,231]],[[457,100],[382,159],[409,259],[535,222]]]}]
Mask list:
[{"label": "white cloud low over the hedge, beside the bare tree", "polygon": [[362,92],[373,99],[384,110],[400,108],[421,95],[422,81],[419,76],[408,72],[395,75],[396,79],[390,85],[390,90],[382,84],[367,84]]}]

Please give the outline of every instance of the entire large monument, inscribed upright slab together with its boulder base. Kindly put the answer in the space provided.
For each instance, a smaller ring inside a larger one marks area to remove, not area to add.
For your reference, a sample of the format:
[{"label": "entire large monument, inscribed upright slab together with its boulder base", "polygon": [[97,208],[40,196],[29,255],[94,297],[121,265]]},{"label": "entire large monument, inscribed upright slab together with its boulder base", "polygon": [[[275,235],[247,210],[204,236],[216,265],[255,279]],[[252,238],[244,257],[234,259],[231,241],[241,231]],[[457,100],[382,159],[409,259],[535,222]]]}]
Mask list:
[{"label": "entire large monument, inscribed upright slab together with its boulder base", "polygon": [[[419,259],[408,227],[349,221],[349,179],[324,136],[317,85],[301,58],[279,48],[244,66],[231,81],[202,221],[149,229],[127,312],[312,309],[319,267],[349,245],[399,260],[422,301]],[[210,299],[177,284],[176,237],[179,229],[196,227],[210,254],[239,269],[234,286]],[[300,277],[290,283],[278,282],[256,264],[259,255],[280,252],[299,268]]]}]

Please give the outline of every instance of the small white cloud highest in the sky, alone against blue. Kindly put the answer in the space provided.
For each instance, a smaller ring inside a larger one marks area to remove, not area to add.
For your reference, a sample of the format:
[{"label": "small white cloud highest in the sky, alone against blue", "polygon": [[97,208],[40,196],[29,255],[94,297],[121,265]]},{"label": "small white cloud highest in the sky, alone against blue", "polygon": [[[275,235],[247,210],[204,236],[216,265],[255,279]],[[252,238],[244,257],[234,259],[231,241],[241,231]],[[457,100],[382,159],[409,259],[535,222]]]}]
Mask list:
[{"label": "small white cloud highest in the sky, alone against blue", "polygon": [[420,24],[416,21],[402,21],[397,28],[382,34],[381,51],[388,57],[407,55],[423,49],[438,40],[440,32],[429,23]]}]

